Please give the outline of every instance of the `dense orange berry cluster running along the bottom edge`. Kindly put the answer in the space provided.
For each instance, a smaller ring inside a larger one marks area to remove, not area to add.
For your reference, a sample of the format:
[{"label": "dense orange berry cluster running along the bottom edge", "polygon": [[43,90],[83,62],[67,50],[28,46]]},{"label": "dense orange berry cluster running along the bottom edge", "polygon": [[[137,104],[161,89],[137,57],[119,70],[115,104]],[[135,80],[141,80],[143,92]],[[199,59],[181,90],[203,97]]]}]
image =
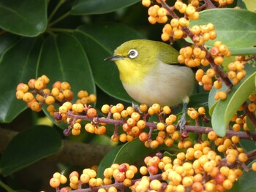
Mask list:
[{"label": "dense orange berry cluster running along the bottom edge", "polygon": [[[132,191],[226,191],[242,174],[242,167],[248,156],[241,147],[237,147],[238,137],[231,139],[218,138],[214,132],[208,138],[215,145],[224,146],[220,153],[225,158],[211,150],[208,141],[189,147],[186,153],[176,154],[176,158],[157,153],[144,158],[145,165],[112,164],[103,172],[104,178],[97,177],[95,169],[83,169],[83,173],[69,174],[69,186],[61,188],[61,192],[72,189],[82,189],[89,185],[95,191],[116,192],[129,187]],[[222,139],[220,141],[219,139]],[[222,144],[221,144],[222,143]],[[256,162],[252,164],[256,171]],[[140,175],[140,178],[137,178]],[[50,185],[59,190],[60,184],[65,184],[67,178],[59,173],[53,174]]]}]

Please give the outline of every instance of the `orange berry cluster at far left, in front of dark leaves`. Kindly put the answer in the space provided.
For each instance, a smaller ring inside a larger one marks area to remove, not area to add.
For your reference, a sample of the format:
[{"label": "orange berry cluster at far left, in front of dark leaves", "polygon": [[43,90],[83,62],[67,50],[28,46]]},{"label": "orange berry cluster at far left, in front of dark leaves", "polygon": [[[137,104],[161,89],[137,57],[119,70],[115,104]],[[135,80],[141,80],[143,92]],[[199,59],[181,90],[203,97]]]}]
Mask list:
[{"label": "orange berry cluster at far left, in front of dark leaves", "polygon": [[[53,104],[63,104],[61,112],[68,111],[72,108],[74,112],[82,112],[83,105],[94,103],[96,96],[94,94],[89,95],[87,91],[78,92],[78,100],[76,104],[72,106],[71,101],[73,99],[73,93],[69,82],[57,81],[53,84],[52,89],[47,88],[49,78],[46,75],[38,77],[37,80],[31,79],[29,82],[20,82],[16,88],[16,98],[23,99],[28,104],[31,110],[39,112],[42,110],[43,104],[48,104],[47,110],[50,115],[54,116],[56,109]],[[82,110],[81,110],[82,109]],[[56,118],[58,120],[58,118]],[[65,117],[62,120],[67,119]]]}]

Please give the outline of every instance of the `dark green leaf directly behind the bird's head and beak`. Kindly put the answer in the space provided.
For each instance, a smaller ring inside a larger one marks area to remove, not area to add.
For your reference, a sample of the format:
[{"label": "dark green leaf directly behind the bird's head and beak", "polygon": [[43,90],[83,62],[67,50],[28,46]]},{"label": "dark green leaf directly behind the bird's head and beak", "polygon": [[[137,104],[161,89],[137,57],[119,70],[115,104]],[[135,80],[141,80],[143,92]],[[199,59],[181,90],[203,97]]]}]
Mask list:
[{"label": "dark green leaf directly behind the bird's head and beak", "polygon": [[131,102],[132,99],[119,80],[116,64],[104,61],[104,58],[112,55],[113,50],[121,43],[130,39],[145,39],[145,37],[134,29],[118,23],[80,26],[74,35],[86,50],[94,80],[99,88],[116,99]]}]

